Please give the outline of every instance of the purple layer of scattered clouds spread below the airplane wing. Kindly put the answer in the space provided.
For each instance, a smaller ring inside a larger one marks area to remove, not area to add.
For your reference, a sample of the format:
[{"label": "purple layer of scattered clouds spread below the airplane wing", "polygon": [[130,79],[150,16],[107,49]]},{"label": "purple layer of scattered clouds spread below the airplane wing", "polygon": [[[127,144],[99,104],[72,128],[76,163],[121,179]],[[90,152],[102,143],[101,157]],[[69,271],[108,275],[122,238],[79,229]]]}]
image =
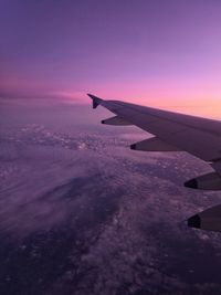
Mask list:
[{"label": "purple layer of scattered clouds spread below the airplane wing", "polygon": [[219,292],[219,234],[183,222],[220,202],[182,187],[207,165],[131,151],[144,133],[80,124],[77,106],[69,108],[4,106],[1,293]]}]

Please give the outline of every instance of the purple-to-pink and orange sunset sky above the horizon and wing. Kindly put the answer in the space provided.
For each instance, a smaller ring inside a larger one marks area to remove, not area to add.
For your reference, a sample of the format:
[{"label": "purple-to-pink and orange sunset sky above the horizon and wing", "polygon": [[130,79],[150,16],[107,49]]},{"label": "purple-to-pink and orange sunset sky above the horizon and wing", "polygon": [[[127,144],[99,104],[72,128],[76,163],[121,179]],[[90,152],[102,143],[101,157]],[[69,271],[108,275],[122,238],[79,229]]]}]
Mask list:
[{"label": "purple-to-pink and orange sunset sky above the horizon and wing", "polygon": [[219,0],[1,0],[0,95],[221,110]]}]

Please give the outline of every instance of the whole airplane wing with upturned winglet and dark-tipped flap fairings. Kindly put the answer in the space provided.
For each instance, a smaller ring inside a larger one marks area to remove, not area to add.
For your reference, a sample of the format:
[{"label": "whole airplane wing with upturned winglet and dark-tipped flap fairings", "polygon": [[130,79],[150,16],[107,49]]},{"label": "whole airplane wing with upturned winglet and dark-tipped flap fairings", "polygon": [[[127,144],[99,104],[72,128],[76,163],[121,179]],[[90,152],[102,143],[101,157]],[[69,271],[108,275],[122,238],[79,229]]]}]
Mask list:
[{"label": "whole airplane wing with upturned winglet and dark-tipped flap fairings", "polygon": [[[185,186],[193,189],[221,190],[221,122],[120,101],[104,101],[92,94],[88,96],[93,101],[93,108],[102,105],[115,114],[114,117],[102,120],[103,124],[135,125],[155,135],[154,138],[133,144],[131,149],[187,151],[210,162],[214,171],[191,179]],[[219,210],[221,215],[221,207]]]}]

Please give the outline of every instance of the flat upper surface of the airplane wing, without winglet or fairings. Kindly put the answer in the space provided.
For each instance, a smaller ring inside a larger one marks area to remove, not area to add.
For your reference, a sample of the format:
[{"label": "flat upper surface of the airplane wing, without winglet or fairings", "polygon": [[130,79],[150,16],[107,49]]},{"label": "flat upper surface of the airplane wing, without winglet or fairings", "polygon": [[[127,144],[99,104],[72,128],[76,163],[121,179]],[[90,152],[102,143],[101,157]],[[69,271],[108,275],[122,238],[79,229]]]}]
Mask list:
[{"label": "flat upper surface of the airplane wing, without winglet or fairings", "polygon": [[133,125],[206,161],[221,159],[221,122],[117,101],[101,103]]}]

